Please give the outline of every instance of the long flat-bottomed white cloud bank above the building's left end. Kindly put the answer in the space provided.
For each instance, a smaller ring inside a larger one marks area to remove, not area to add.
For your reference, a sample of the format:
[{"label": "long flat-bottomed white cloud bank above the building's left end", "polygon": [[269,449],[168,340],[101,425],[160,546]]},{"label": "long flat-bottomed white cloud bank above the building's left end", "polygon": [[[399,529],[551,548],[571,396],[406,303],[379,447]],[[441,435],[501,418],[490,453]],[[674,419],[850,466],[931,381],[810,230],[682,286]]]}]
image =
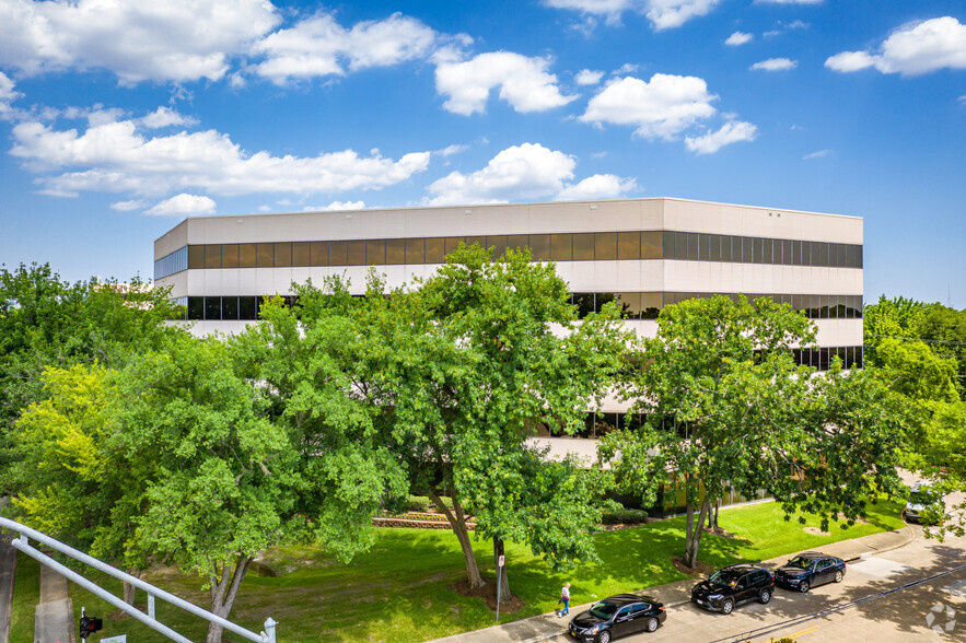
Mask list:
[{"label": "long flat-bottomed white cloud bank above the building's left end", "polygon": [[56,130],[36,121],[13,128],[11,154],[48,190],[163,196],[202,190],[220,195],[339,192],[379,189],[427,168],[430,152],[398,161],[353,150],[316,156],[249,153],[216,130],[147,137],[137,119]]}]

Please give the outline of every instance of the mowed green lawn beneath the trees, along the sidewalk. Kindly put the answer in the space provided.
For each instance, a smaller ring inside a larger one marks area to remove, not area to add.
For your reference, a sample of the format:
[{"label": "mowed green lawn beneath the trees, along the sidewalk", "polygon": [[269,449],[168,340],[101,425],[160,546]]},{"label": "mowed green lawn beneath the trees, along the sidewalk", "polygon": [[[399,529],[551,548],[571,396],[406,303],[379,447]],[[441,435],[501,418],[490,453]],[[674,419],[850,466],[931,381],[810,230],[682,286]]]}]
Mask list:
[{"label": "mowed green lawn beneath the trees, along the sidewalk", "polygon": [[[831,526],[829,536],[804,531],[805,526],[818,526],[817,519],[810,519],[806,525],[799,524],[795,517],[785,522],[781,508],[771,502],[722,510],[720,524],[734,538],[706,534],[699,558],[717,568],[820,548],[828,542],[899,528],[900,508],[897,502],[880,502],[870,507],[868,523],[845,530]],[[511,615],[501,613],[500,620],[552,611],[565,582],[572,583],[573,600],[581,604],[684,578],[671,562],[684,550],[684,518],[677,517],[598,534],[595,538],[602,562],[582,564],[569,573],[551,572],[525,547],[508,543],[510,587],[526,607]],[[479,541],[475,549],[485,577],[492,581],[491,543]],[[265,618],[271,616],[279,622],[281,642],[426,641],[496,622],[481,599],[461,596],[451,588],[464,576],[465,569],[459,546],[450,531],[379,529],[373,549],[348,564],[338,563],[312,547],[280,548],[268,558],[277,568],[291,571],[279,577],[249,573],[231,618],[257,632]],[[88,577],[104,581],[95,574]],[[207,592],[200,591],[197,578],[186,578],[173,570],[155,570],[146,578],[196,605],[207,606]],[[106,583],[120,595],[119,582]],[[78,618],[81,606],[94,616],[105,617],[115,611],[77,585],[70,587]],[[138,605],[146,605],[143,594],[138,597]],[[203,639],[205,624],[195,617],[161,601],[158,613],[163,622],[186,636]],[[104,626],[102,636],[127,634],[129,641],[165,641],[129,617],[106,618]],[[225,640],[242,641],[230,634]]]}]

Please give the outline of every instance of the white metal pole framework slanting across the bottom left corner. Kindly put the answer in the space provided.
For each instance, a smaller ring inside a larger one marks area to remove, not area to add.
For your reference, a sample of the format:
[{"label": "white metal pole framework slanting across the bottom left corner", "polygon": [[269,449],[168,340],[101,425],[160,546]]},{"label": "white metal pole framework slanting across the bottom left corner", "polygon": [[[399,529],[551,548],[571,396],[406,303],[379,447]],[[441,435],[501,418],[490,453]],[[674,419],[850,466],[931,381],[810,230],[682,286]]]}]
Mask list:
[{"label": "white metal pole framework slanting across the bottom left corner", "polygon": [[[127,613],[129,613],[130,616],[132,616],[137,620],[141,621],[142,623],[144,623],[146,626],[148,626],[152,630],[164,634],[165,636],[167,636],[172,641],[177,641],[178,643],[191,643],[190,639],[186,639],[185,636],[178,634],[177,632],[175,632],[174,630],[172,630],[171,628],[168,628],[167,626],[165,626],[164,623],[162,623],[161,621],[159,621],[154,617],[154,599],[155,598],[160,598],[162,600],[165,600],[165,601],[170,603],[171,605],[174,605],[175,607],[179,607],[189,613],[193,613],[193,615],[195,615],[199,618],[202,618],[209,622],[221,626],[225,630],[228,630],[234,634],[237,634],[238,636],[247,639],[248,641],[254,641],[255,643],[276,643],[275,628],[276,628],[277,623],[275,622],[275,620],[272,620],[271,617],[268,617],[267,619],[265,619],[265,631],[263,631],[259,634],[256,634],[254,632],[246,630],[245,628],[243,628],[241,626],[236,626],[235,623],[233,623],[226,619],[223,619],[218,615],[214,615],[214,613],[208,611],[207,609],[201,609],[200,607],[198,607],[196,605],[191,605],[187,600],[178,598],[174,594],[165,592],[164,589],[161,589],[160,587],[155,587],[154,585],[151,585],[150,583],[147,583],[140,578],[136,578],[135,576],[131,576],[130,574],[127,574],[125,572],[121,572],[117,568],[114,568],[103,561],[100,561],[96,558],[88,556],[86,553],[84,553],[82,551],[78,551],[77,549],[69,547],[69,546],[60,542],[59,540],[50,538],[46,534],[42,534],[40,531],[37,531],[36,529],[31,529],[26,525],[21,525],[20,523],[16,523],[14,521],[0,517],[0,527],[2,527],[4,529],[10,529],[11,531],[18,531],[20,534],[20,538],[15,538],[13,540],[13,542],[11,542],[11,545],[14,548],[16,548],[18,550],[20,550],[20,551],[24,552],[25,554],[27,554],[28,557],[37,560],[42,564],[45,564],[48,568],[55,570],[57,573],[61,574],[62,576],[67,577],[68,580],[73,581],[74,583],[77,583],[78,585],[83,587],[84,589],[103,598],[104,600],[106,600],[107,603],[113,605],[114,607],[126,611]],[[94,568],[95,570],[100,570],[100,571],[104,572],[105,574],[114,576],[115,578],[124,581],[125,583],[129,583],[129,584],[133,585],[135,587],[138,587],[139,589],[143,589],[144,593],[148,594],[148,613],[144,613],[141,610],[137,609],[136,607],[128,605],[127,603],[125,603],[124,600],[121,600],[120,598],[115,596],[114,594],[110,594],[106,589],[103,589],[102,587],[100,587],[95,583],[89,581],[88,578],[81,576],[80,574],[78,574],[77,572],[71,570],[70,568],[67,568],[67,566],[60,564],[59,562],[57,562],[56,560],[50,558],[49,556],[46,556],[44,552],[38,551],[37,549],[35,549],[34,547],[31,546],[31,543],[30,543],[31,538],[33,538],[37,542],[42,542],[42,543],[46,545],[47,547],[50,547],[51,549],[56,549],[57,551],[59,551],[63,554],[67,554],[77,561],[88,564],[88,565]]]}]

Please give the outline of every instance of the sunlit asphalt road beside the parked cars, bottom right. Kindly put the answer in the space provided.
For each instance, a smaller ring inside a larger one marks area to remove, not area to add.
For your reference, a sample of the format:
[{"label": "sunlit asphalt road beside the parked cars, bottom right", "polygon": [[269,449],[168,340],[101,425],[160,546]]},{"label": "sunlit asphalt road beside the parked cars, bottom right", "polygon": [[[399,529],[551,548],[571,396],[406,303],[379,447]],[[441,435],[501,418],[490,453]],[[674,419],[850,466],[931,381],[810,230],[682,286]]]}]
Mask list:
[{"label": "sunlit asphalt road beside the parked cars, bottom right", "polygon": [[840,584],[807,594],[777,588],[768,605],[745,604],[729,616],[683,605],[667,610],[656,632],[620,641],[966,642],[966,538],[941,543],[916,530],[906,547],[850,563]]}]

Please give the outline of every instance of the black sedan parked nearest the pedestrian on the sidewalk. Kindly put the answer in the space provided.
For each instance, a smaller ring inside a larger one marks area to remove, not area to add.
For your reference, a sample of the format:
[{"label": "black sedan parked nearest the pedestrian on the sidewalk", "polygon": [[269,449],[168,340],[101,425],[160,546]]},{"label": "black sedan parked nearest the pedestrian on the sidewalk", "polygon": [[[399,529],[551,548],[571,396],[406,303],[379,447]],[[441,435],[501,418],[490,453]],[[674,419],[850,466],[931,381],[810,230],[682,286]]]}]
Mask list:
[{"label": "black sedan parked nearest the pedestrian on the sidewalk", "polygon": [[570,621],[570,634],[580,641],[609,643],[636,632],[653,632],[664,622],[664,604],[650,596],[618,594],[582,611]]}]

